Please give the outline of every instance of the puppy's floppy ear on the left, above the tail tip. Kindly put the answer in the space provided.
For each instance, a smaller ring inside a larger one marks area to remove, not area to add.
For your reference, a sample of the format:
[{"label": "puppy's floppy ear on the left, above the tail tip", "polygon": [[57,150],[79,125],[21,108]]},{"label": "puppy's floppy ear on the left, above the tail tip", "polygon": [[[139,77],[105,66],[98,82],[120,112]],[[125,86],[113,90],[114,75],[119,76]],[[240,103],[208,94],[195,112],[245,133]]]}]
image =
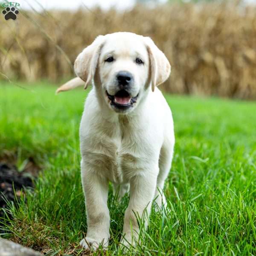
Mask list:
[{"label": "puppy's floppy ear on the left, above the tail tip", "polygon": [[104,43],[104,36],[99,35],[91,45],[86,47],[76,58],[74,70],[85,81],[84,89],[92,82],[98,64],[99,52]]}]

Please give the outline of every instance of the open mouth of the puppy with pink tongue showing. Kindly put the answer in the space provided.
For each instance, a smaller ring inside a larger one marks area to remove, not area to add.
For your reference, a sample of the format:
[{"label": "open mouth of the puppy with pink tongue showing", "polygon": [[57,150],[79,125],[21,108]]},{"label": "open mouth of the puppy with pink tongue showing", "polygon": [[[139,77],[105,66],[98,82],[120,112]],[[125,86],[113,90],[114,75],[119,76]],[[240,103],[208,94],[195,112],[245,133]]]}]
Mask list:
[{"label": "open mouth of the puppy with pink tongue showing", "polygon": [[114,105],[117,108],[129,108],[133,107],[133,104],[137,101],[138,95],[131,97],[128,91],[119,90],[115,95],[110,95],[107,91],[106,94],[108,99],[111,100],[111,105]]}]

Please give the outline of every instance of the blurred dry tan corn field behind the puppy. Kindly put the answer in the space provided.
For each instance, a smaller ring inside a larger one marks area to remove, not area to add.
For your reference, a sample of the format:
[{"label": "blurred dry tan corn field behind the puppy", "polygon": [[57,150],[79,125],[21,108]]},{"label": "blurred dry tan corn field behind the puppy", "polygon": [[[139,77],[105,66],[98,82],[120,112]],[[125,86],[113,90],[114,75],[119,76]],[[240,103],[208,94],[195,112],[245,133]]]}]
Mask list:
[{"label": "blurred dry tan corn field behind the puppy", "polygon": [[0,19],[1,79],[60,82],[100,34],[150,36],[172,65],[170,93],[256,99],[256,8],[230,4],[136,6],[126,12],[22,12]]}]

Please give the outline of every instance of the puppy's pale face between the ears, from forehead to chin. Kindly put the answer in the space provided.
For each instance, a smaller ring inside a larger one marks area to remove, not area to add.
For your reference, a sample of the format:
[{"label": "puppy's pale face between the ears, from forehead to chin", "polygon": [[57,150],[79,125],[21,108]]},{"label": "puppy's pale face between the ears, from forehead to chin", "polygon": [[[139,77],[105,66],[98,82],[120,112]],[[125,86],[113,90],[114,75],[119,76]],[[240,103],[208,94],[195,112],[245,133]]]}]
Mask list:
[{"label": "puppy's pale face between the ears, from forehead to chin", "polygon": [[107,105],[118,113],[133,111],[148,87],[149,56],[142,36],[108,35],[98,68],[99,90]]}]

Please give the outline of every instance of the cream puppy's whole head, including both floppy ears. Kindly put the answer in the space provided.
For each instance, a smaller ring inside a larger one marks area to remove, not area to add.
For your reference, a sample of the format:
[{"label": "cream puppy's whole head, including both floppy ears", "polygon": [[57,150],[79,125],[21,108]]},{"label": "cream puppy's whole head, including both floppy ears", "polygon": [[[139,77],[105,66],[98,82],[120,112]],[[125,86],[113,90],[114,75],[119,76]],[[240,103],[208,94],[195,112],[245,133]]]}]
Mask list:
[{"label": "cream puppy's whole head, including both floppy ears", "polygon": [[171,70],[150,38],[128,32],[97,37],[78,55],[74,67],[85,88],[94,80],[99,98],[117,113],[133,111],[150,85],[154,91]]}]

